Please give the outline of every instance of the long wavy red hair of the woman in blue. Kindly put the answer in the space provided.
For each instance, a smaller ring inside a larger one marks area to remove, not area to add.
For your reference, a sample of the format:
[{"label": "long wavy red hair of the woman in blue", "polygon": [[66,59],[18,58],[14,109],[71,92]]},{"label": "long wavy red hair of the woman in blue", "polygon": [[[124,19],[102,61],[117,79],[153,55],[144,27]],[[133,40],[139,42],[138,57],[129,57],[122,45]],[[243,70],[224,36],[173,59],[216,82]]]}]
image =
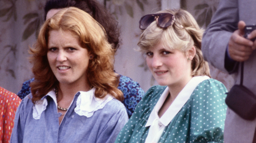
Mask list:
[{"label": "long wavy red hair of the woman in blue", "polygon": [[35,77],[30,85],[33,103],[59,85],[47,59],[50,30],[75,33],[81,47],[94,55],[89,61],[87,75],[89,83],[96,87],[96,97],[104,98],[111,94],[119,101],[123,100],[123,93],[117,88],[119,76],[114,72],[115,51],[107,41],[104,28],[85,11],[69,7],[63,8],[42,25],[36,43],[30,48],[30,62]]}]

